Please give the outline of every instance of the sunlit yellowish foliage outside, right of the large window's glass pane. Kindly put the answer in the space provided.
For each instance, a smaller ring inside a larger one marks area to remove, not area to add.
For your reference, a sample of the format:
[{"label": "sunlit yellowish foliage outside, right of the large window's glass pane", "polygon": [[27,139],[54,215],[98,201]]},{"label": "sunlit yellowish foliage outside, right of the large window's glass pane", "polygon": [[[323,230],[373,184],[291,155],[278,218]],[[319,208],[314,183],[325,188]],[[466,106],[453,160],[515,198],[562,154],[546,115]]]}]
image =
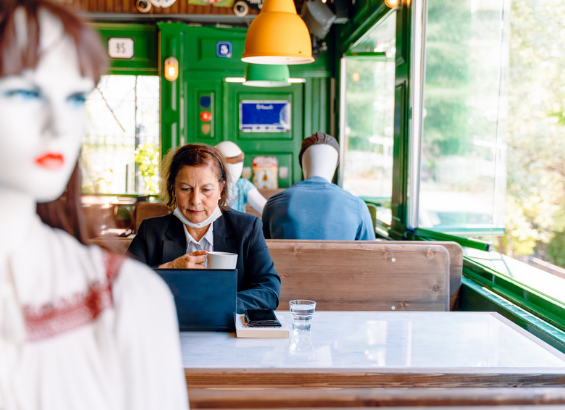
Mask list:
[{"label": "sunlit yellowish foliage outside, right of the large window's glass pane", "polygon": [[565,3],[513,0],[507,232],[499,249],[565,267]]}]

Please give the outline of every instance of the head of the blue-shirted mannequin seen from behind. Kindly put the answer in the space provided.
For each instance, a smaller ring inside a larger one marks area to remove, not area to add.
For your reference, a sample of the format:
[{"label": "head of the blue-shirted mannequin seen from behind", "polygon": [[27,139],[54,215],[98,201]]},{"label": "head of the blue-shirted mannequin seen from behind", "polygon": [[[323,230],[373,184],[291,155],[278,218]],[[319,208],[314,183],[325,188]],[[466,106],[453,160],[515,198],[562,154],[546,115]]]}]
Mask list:
[{"label": "head of the blue-shirted mannequin seen from behind", "polygon": [[298,160],[304,179],[322,177],[331,182],[339,163],[339,144],[331,135],[317,132],[302,141]]}]

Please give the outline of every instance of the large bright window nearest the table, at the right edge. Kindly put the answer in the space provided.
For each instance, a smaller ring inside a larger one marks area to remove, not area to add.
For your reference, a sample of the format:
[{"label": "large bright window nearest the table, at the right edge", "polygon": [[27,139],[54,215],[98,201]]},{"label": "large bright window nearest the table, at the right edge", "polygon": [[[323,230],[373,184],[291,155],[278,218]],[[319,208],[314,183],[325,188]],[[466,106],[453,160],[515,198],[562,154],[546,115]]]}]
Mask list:
[{"label": "large bright window nearest the table, at the right edge", "polygon": [[418,228],[489,240],[469,256],[530,286],[565,277],[564,21],[559,0],[428,0]]}]

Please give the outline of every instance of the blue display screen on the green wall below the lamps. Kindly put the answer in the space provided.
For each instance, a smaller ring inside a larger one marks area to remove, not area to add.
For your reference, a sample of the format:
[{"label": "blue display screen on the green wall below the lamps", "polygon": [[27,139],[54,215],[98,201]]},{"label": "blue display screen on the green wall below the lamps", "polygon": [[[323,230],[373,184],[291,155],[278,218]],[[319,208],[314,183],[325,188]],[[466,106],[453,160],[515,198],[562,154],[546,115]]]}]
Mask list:
[{"label": "blue display screen on the green wall below the lamps", "polygon": [[239,103],[239,129],[243,132],[286,132],[290,130],[289,101]]}]

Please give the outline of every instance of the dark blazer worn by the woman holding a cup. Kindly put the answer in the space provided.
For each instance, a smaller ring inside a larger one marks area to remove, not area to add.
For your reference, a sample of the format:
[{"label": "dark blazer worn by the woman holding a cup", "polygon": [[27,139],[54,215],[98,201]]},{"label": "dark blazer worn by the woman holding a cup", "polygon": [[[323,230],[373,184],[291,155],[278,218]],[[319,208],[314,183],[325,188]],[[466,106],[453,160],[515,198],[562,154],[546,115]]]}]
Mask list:
[{"label": "dark blazer worn by the woman holding a cup", "polygon": [[[214,222],[214,251],[237,253],[237,312],[279,305],[281,280],[263,236],[263,224],[253,215],[227,209]],[[158,267],[186,253],[182,222],[173,214],[141,222],[128,255]]]}]

